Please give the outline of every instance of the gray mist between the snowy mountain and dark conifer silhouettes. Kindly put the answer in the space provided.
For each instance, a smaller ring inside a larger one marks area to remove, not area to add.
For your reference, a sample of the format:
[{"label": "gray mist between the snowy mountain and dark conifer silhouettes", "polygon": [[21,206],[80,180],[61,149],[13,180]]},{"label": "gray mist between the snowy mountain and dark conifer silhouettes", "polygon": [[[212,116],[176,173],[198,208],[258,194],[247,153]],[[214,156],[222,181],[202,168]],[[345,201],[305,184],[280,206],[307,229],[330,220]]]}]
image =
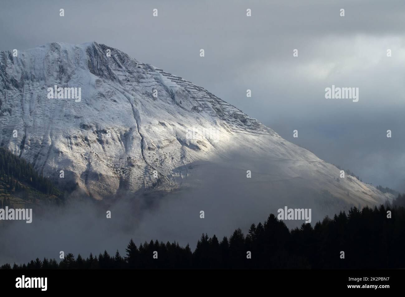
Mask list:
[{"label": "gray mist between the snowy mountain and dark conifer silhouettes", "polygon": [[[104,250],[122,256],[131,238],[137,246],[150,240],[190,244],[195,249],[202,233],[219,239],[240,227],[244,234],[252,223],[264,222],[270,213],[288,208],[311,208],[311,224],[349,205],[333,197],[291,186],[271,162],[235,152],[213,162],[199,161],[184,168],[189,176],[172,192],[126,193],[113,200],[94,201],[72,193],[64,206],[40,206],[32,223],[3,221],[0,228],[0,264],[27,263],[39,257],[55,258],[60,251],[86,258]],[[246,177],[251,170],[252,178]],[[328,199],[330,205],[321,205]],[[106,212],[111,211],[108,219]],[[204,218],[200,218],[204,211]],[[285,221],[289,228],[304,220]]]}]

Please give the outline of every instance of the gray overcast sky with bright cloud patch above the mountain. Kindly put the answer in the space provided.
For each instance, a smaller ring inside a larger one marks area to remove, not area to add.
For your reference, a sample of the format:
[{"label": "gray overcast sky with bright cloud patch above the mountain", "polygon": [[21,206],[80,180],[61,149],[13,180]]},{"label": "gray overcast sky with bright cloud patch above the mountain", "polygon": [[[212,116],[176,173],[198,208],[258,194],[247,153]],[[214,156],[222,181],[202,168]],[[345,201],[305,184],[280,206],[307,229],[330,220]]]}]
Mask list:
[{"label": "gray overcast sky with bright cloud patch above the mountain", "polygon": [[[55,41],[107,44],[203,86],[363,181],[405,192],[403,0],[0,5],[0,50]],[[298,57],[292,56],[295,48]],[[359,101],[325,99],[332,84],[358,87]],[[294,129],[298,139],[292,138]]]}]

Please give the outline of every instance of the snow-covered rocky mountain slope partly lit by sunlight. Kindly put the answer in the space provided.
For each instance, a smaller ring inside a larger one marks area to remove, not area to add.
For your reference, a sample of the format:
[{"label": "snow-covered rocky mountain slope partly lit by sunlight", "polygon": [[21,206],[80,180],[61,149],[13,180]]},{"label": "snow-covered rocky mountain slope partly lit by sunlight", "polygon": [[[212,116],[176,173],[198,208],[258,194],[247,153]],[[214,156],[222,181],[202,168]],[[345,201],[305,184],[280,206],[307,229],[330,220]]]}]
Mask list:
[{"label": "snow-covered rocky mountain slope partly lit by sunlight", "polygon": [[[335,166],[204,88],[104,44],[50,43],[0,59],[0,144],[62,187],[77,183],[96,199],[172,190],[203,181],[201,164],[226,164],[246,181],[330,192],[356,206],[390,198],[339,178]],[[81,100],[49,99],[55,85],[81,88]],[[237,162],[235,152],[266,166]]]}]

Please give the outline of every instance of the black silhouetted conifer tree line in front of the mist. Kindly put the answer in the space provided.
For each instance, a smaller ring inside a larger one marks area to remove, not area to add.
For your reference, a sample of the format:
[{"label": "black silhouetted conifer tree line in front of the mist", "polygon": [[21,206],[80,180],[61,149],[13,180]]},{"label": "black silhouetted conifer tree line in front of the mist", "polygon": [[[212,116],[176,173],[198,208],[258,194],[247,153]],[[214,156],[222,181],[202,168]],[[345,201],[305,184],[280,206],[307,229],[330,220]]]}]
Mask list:
[{"label": "black silhouetted conifer tree line in front of the mist", "polygon": [[[391,212],[389,214],[389,212]],[[345,253],[341,258],[341,251]],[[237,229],[229,237],[203,234],[194,252],[189,244],[151,240],[136,246],[131,239],[122,257],[107,251],[84,259],[68,253],[60,263],[40,259],[28,264],[4,264],[1,269],[377,269],[405,267],[405,194],[379,208],[353,207],[315,226],[288,230],[273,214],[252,224],[245,236]],[[153,258],[157,252],[157,259]],[[251,259],[248,259],[248,252]]]}]

